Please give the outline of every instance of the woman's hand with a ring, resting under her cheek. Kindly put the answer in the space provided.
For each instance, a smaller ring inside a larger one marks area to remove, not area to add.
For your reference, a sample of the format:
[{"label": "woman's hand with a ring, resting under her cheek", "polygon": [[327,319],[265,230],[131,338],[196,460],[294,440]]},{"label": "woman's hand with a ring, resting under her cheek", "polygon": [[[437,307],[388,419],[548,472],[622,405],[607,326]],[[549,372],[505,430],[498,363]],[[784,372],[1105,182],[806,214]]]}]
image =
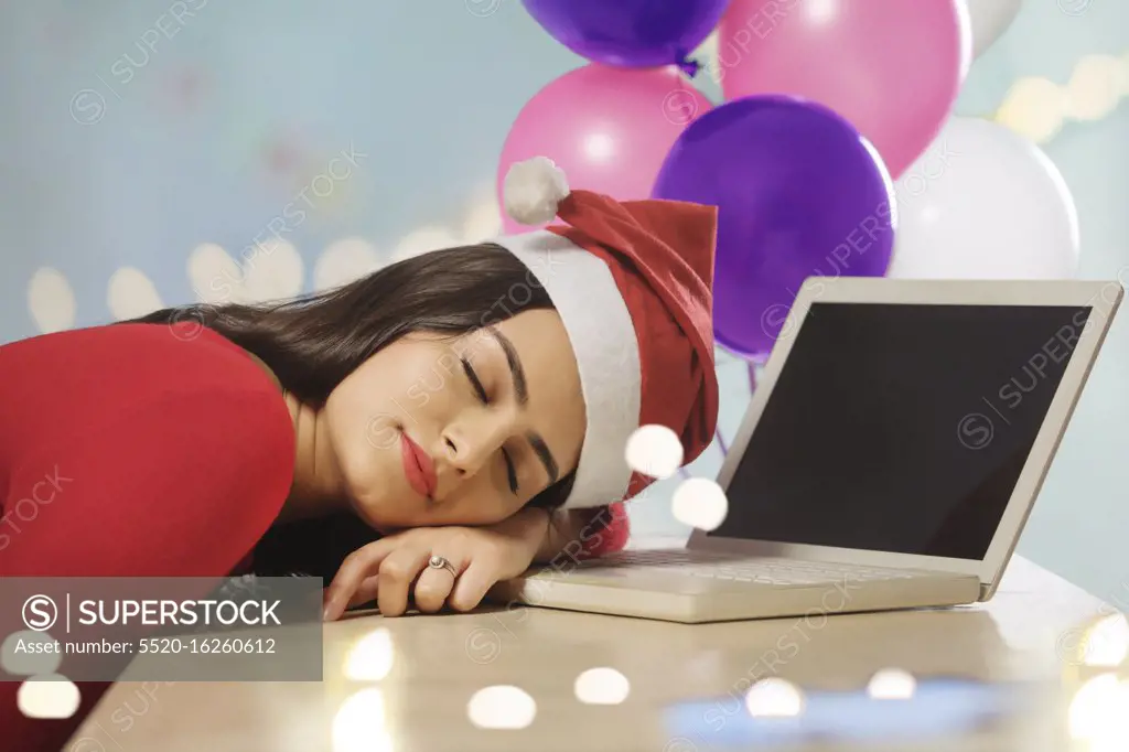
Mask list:
[{"label": "woman's hand with a ring, resting under her cheek", "polygon": [[[533,562],[549,525],[541,509],[522,509],[492,527],[415,527],[353,551],[325,593],[324,619],[376,598],[380,613],[399,617],[414,601],[425,613],[444,605],[470,611],[490,587],[517,577]],[[432,556],[450,562],[428,566]]]}]

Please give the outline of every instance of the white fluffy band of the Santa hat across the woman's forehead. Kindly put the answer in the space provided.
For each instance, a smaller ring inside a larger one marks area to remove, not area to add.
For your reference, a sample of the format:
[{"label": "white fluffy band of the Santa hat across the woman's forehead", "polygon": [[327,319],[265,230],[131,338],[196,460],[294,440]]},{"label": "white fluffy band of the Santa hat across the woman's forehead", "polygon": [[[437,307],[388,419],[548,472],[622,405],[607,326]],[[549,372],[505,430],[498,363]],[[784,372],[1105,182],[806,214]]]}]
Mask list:
[{"label": "white fluffy band of the Santa hat across the woman's forehead", "polygon": [[[627,303],[599,256],[540,230],[498,238],[528,266],[564,324],[580,371],[588,429],[564,508],[623,498],[631,480],[624,449],[639,428],[639,342]],[[532,281],[532,280],[531,280]]]}]

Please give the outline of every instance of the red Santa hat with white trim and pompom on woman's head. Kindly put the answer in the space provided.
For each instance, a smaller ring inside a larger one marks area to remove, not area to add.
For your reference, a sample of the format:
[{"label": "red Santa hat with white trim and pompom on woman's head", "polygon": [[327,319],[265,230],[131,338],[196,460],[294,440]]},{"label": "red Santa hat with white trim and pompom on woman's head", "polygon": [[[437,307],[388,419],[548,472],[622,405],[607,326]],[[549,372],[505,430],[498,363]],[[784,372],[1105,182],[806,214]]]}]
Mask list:
[{"label": "red Santa hat with white trim and pompom on woman's head", "polygon": [[714,438],[717,210],[569,191],[544,157],[510,167],[502,193],[518,222],[566,222],[497,241],[549,294],[579,366],[588,428],[564,507],[634,496],[654,480],[627,462],[639,427],[672,429],[685,463]]}]

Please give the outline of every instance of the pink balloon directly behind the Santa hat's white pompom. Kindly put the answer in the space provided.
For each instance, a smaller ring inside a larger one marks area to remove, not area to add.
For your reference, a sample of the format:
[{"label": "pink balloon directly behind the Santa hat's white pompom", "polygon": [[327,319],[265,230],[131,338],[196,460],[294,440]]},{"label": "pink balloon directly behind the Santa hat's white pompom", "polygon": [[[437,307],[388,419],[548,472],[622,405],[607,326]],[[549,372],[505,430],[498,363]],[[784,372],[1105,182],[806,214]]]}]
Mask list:
[{"label": "pink balloon directly behind the Santa hat's white pompom", "polygon": [[[675,139],[711,106],[674,67],[594,63],[564,73],[537,91],[510,128],[498,165],[499,202],[509,166],[536,156],[555,161],[570,187],[647,199]],[[502,224],[506,233],[530,230],[506,216]]]}]

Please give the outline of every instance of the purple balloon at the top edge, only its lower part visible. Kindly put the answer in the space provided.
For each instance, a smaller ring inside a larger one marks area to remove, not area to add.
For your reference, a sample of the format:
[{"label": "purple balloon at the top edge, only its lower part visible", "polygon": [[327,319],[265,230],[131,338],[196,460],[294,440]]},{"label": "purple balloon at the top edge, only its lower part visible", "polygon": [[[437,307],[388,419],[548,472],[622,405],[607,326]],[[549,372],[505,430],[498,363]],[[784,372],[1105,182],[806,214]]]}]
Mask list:
[{"label": "purple balloon at the top edge, only its lower part visible", "polygon": [[729,0],[523,0],[549,34],[607,65],[681,63],[717,26]]}]

